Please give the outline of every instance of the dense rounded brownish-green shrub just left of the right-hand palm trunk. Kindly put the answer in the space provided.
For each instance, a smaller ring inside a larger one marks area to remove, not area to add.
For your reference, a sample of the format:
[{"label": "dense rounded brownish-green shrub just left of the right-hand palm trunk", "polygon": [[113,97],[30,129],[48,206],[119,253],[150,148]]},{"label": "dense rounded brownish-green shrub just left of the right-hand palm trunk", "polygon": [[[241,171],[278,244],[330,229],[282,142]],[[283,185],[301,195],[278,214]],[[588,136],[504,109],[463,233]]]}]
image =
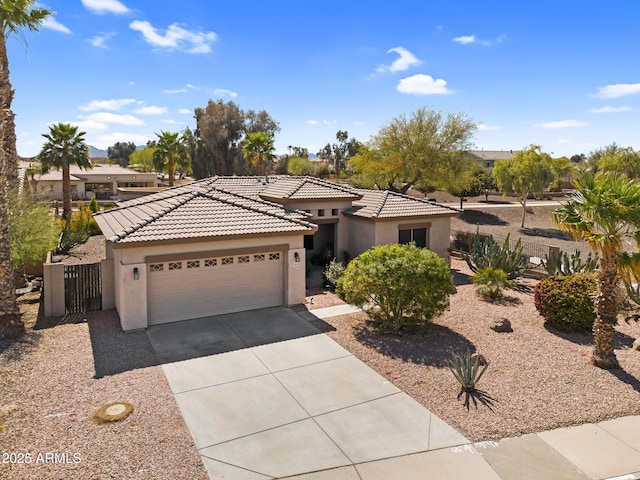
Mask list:
[{"label": "dense rounded brownish-green shrub just left of the right-hand palm trunk", "polygon": [[562,332],[589,331],[596,318],[594,296],[598,281],[593,274],[551,276],[539,282],[533,293],[538,312]]}]

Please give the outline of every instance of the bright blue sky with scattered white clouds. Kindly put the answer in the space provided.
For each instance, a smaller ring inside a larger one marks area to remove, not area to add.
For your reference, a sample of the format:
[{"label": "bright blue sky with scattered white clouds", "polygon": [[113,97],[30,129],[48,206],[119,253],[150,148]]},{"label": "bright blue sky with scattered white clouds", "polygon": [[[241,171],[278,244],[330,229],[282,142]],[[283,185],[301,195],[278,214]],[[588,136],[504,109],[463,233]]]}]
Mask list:
[{"label": "bright blue sky with scattered white clouds", "polygon": [[[49,0],[8,41],[18,152],[48,125],[144,144],[233,100],[280,123],[276,150],[365,142],[419,107],[465,113],[478,149],[640,147],[635,0]],[[25,48],[25,42],[27,44]]]}]

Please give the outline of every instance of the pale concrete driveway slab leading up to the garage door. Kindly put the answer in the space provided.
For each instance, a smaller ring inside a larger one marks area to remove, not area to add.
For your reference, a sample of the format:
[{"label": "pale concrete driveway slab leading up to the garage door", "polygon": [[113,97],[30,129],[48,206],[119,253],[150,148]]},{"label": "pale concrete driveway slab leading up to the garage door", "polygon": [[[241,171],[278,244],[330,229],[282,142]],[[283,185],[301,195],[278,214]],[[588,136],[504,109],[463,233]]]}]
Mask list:
[{"label": "pale concrete driveway slab leading up to the garage door", "polygon": [[498,478],[462,435],[288,308],[147,335],[171,362],[162,368],[212,479],[385,478],[418,452],[434,454],[434,472],[453,468],[446,478]]}]

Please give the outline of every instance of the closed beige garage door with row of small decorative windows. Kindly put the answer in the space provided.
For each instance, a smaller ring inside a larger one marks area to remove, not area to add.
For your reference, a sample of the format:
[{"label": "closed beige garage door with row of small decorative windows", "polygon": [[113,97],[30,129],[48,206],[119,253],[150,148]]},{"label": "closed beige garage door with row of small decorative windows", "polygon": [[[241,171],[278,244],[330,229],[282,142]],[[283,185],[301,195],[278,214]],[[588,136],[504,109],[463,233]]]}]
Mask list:
[{"label": "closed beige garage door with row of small decorative windows", "polygon": [[260,252],[147,266],[149,325],[284,303],[284,254]]}]

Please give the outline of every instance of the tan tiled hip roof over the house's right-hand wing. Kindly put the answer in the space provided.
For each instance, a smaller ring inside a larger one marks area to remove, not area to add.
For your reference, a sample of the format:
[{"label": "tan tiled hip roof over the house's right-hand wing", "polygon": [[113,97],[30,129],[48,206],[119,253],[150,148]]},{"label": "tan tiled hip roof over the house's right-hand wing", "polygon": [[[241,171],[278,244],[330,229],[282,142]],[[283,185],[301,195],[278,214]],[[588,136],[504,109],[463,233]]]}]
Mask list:
[{"label": "tan tiled hip roof over the house's right-hand wing", "polygon": [[345,210],[346,215],[361,218],[404,218],[436,215],[458,215],[460,210],[440,205],[423,198],[410,197],[389,190],[358,189],[362,195]]}]

